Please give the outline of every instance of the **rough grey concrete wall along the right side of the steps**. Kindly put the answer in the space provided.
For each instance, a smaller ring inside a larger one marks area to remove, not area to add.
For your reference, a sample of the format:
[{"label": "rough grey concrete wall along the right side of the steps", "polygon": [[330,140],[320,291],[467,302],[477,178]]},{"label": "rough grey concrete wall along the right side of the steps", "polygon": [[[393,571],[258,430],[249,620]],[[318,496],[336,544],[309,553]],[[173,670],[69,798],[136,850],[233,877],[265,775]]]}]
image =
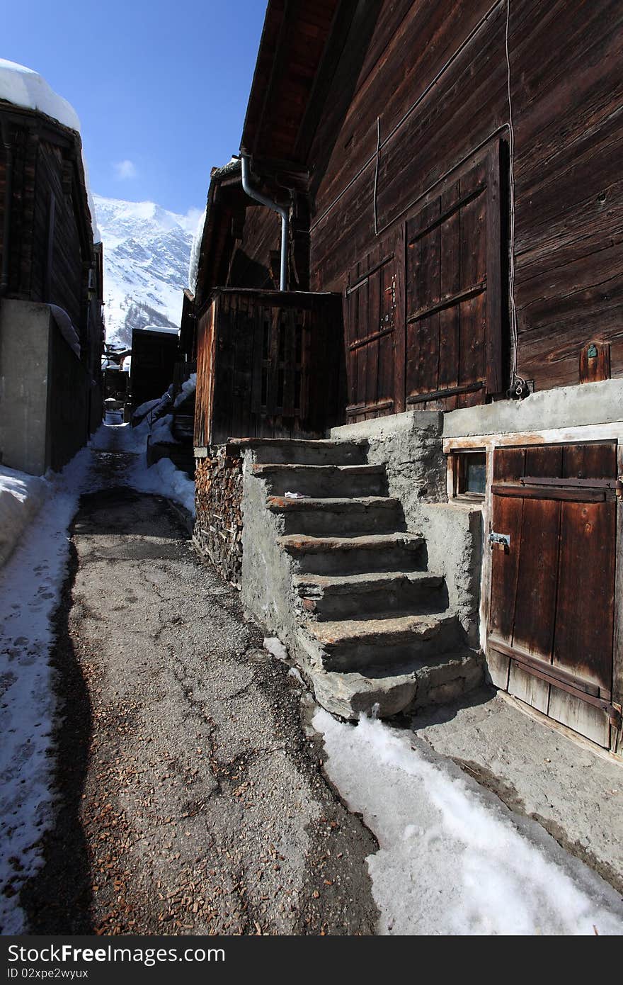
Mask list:
[{"label": "rough grey concrete wall along the right side of the steps", "polygon": [[407,411],[375,421],[334,427],[338,440],[365,440],[371,465],[385,465],[389,493],[401,500],[406,529],[426,539],[428,568],[443,574],[448,601],[470,646],[478,646],[482,509],[448,502],[444,415]]}]

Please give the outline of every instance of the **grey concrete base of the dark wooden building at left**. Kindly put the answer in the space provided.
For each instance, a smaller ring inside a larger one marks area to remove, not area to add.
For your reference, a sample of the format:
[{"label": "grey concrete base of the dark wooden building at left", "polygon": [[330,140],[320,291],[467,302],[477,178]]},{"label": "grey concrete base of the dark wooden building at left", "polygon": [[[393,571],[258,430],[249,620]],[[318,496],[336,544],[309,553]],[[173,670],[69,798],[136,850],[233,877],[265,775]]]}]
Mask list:
[{"label": "grey concrete base of the dark wooden building at left", "polygon": [[0,456],[38,476],[89,437],[91,377],[47,304],[0,302]]}]

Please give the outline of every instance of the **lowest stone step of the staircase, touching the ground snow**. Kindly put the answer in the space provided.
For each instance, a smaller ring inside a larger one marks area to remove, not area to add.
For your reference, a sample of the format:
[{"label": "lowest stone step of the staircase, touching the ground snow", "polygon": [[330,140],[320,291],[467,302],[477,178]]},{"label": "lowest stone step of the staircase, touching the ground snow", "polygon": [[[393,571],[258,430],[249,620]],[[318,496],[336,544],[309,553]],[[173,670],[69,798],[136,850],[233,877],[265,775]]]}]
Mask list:
[{"label": "lowest stone step of the staircase, touching the ground snow", "polygon": [[370,669],[365,674],[310,666],[308,676],[316,700],[334,715],[350,720],[361,714],[391,718],[458,700],[482,684],[484,661],[482,654],[460,648],[436,660],[414,661],[391,670]]}]

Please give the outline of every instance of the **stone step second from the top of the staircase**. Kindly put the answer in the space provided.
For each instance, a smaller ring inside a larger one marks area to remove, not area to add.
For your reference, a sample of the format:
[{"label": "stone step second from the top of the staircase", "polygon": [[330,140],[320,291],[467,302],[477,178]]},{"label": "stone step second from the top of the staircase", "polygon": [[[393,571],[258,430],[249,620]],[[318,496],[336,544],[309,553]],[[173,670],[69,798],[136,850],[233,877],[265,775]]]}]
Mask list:
[{"label": "stone step second from the top of the staircase", "polygon": [[253,466],[253,474],[264,479],[273,495],[302,493],[322,497],[384,495],[387,478],[384,465],[281,465]]}]

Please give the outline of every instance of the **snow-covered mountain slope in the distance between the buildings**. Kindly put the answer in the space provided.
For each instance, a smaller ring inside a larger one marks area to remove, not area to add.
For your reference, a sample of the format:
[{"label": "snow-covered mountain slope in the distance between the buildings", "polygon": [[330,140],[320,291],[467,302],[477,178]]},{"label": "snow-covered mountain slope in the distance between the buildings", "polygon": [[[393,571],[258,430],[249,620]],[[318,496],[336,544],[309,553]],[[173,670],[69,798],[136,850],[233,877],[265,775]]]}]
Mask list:
[{"label": "snow-covered mountain slope in the distance between the buildings", "polygon": [[132,329],[179,326],[199,211],[93,196],[103,243],[106,341],[130,345]]}]

